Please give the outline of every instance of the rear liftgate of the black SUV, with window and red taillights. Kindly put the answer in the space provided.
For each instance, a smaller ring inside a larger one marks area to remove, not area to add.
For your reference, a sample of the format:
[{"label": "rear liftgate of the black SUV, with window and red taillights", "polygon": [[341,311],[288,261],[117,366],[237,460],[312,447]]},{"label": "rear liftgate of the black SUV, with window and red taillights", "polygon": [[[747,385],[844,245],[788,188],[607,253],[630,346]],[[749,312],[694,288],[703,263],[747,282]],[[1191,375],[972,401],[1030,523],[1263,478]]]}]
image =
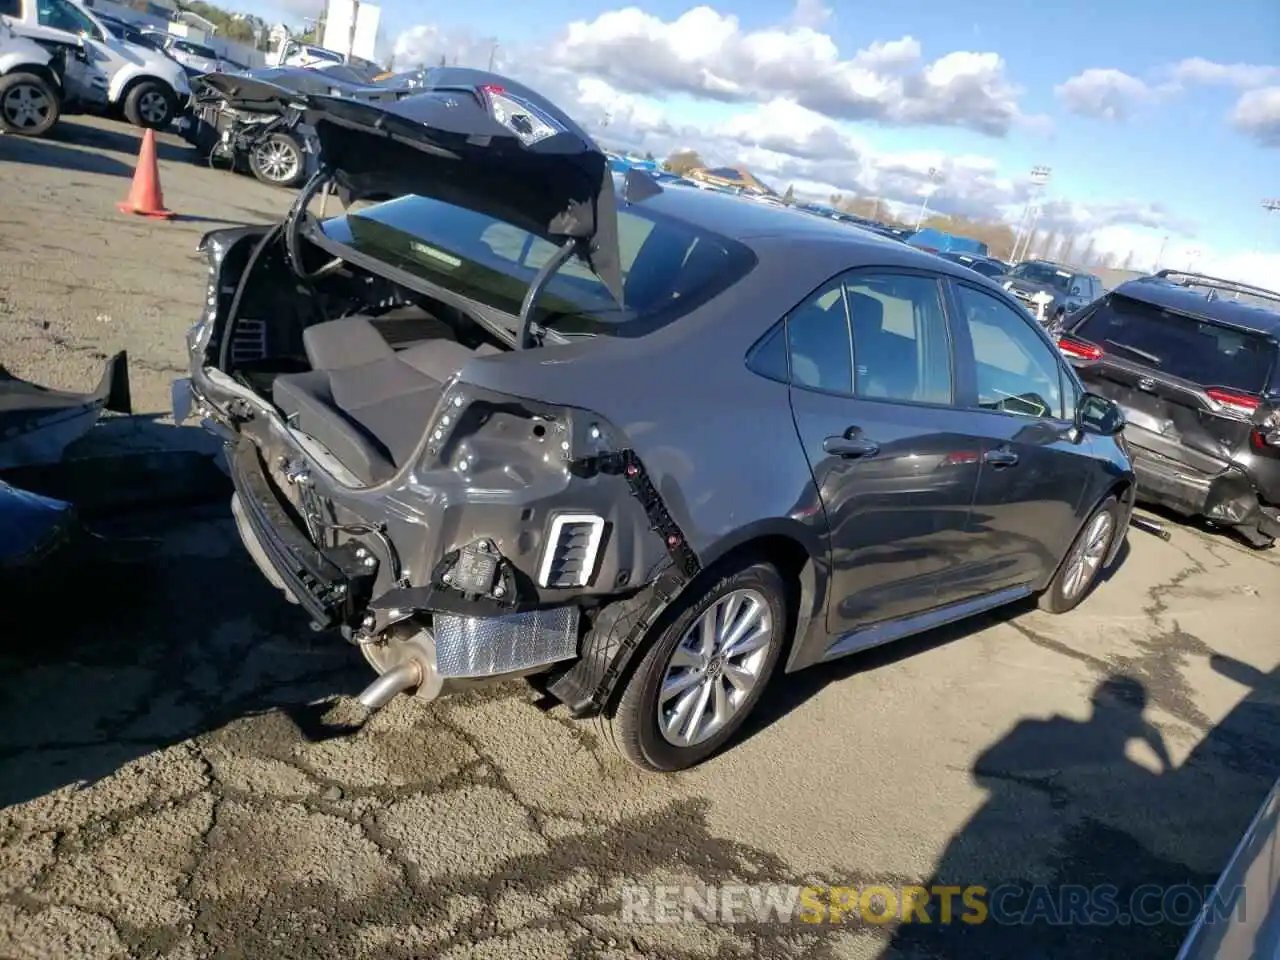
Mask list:
[{"label": "rear liftgate of the black SUV, with window and red taillights", "polygon": [[1277,360],[1260,334],[1112,293],[1061,342],[1088,388],[1125,412],[1125,439],[1216,476],[1247,449]]}]

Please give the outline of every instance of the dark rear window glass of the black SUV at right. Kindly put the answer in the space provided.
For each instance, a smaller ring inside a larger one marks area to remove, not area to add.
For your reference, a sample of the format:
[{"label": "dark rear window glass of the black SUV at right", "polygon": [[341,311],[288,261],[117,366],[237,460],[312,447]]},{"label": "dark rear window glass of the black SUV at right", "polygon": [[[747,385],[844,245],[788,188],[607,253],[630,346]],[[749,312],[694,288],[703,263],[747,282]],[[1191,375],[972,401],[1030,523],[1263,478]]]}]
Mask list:
[{"label": "dark rear window glass of the black SUV at right", "polygon": [[1128,297],[1112,296],[1074,333],[1125,360],[1201,387],[1261,393],[1276,361],[1276,344],[1265,337]]}]

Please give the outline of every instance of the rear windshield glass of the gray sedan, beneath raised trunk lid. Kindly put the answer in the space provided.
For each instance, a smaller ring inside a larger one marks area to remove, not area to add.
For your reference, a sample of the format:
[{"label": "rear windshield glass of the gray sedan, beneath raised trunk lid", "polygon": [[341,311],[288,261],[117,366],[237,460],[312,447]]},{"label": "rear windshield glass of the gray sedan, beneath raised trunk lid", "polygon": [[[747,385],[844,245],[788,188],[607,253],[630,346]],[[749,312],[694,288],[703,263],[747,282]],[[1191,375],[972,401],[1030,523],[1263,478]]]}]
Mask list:
[{"label": "rear windshield glass of the gray sedan, beneath raised trunk lid", "polygon": [[[556,244],[502,220],[410,195],[326,220],[328,237],[454,293],[518,316]],[[563,334],[636,337],[690,312],[755,264],[736,241],[631,206],[618,211],[623,306],[572,259],[539,300]]]}]

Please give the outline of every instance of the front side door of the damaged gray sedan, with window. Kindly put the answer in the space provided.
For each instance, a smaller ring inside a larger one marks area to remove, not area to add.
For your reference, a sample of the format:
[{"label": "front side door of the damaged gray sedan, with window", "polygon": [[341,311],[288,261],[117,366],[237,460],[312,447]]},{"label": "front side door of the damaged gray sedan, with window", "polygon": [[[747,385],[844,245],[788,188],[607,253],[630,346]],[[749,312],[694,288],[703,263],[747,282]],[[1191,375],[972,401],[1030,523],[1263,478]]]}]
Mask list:
[{"label": "front side door of the damaged gray sedan, with window", "polygon": [[1039,330],[1001,297],[955,283],[957,349],[972,353],[973,430],[986,436],[972,556],[950,599],[1043,584],[1079,527],[1092,439],[1073,429],[1074,385]]}]

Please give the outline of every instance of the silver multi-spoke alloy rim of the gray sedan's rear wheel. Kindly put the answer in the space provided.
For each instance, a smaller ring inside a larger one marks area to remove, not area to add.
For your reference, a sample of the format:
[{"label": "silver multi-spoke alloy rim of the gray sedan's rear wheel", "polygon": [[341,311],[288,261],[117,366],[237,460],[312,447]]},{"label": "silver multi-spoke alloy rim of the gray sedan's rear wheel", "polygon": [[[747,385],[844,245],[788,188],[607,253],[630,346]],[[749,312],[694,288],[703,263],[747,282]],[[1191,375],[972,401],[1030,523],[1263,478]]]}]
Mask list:
[{"label": "silver multi-spoke alloy rim of the gray sedan's rear wheel", "polygon": [[667,662],[658,690],[663,739],[689,748],[723,730],[760,682],[776,636],[769,603],[759,590],[717,598]]}]

